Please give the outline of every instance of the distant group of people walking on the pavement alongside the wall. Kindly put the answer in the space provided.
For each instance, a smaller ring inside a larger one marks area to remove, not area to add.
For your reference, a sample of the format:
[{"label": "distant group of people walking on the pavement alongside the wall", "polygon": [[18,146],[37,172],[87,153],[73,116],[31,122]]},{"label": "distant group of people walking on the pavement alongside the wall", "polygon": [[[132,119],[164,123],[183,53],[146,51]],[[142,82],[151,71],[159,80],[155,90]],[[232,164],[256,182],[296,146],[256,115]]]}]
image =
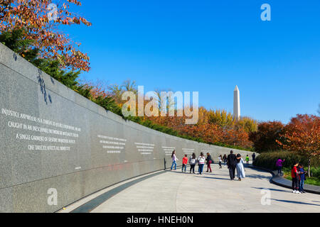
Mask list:
[{"label": "distant group of people walking on the pavement alongside the wall", "polygon": [[[201,152],[199,157],[196,157],[196,154],[193,153],[189,158],[188,155],[184,155],[182,159],[182,172],[186,172],[186,165],[189,163],[190,165],[190,173],[195,173],[195,167],[198,164],[198,174],[202,175],[203,173],[203,167],[206,164],[207,165],[207,172],[212,172],[211,169],[211,163],[213,163],[213,159],[211,158],[210,153],[203,155]],[[178,161],[178,158],[176,157],[176,150],[174,150],[171,154],[172,157],[172,165],[171,170],[176,170],[176,162]],[[246,157],[247,163],[249,162],[249,156]],[[237,176],[238,180],[241,180],[242,178],[245,178],[245,167],[243,166],[244,160],[242,159],[240,154],[234,155],[233,150],[230,151],[230,155],[219,155],[218,157],[219,162],[219,168],[222,168],[222,162],[224,162],[224,165],[228,165],[230,179],[235,179],[235,170],[237,170]]]}]

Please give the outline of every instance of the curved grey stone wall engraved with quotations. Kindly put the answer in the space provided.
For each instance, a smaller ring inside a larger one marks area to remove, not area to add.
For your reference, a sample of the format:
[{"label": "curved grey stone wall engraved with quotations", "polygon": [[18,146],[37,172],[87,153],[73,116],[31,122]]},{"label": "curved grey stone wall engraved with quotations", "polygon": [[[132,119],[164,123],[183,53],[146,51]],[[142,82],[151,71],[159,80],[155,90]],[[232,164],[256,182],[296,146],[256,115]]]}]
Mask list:
[{"label": "curved grey stone wall engraved with quotations", "polygon": [[[124,179],[221,148],[105,111],[0,44],[0,211],[53,212]],[[247,152],[235,150],[245,155]]]}]

